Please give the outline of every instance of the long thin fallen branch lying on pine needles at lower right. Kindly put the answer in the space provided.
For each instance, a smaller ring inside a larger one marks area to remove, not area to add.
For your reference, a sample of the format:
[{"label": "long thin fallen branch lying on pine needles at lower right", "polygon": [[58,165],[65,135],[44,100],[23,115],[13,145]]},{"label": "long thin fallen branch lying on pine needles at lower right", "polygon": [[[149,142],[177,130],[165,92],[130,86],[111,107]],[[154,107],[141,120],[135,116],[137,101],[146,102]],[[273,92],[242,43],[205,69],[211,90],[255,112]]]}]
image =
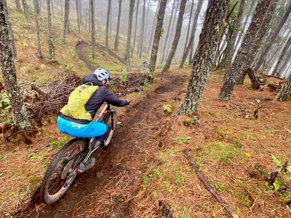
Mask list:
[{"label": "long thin fallen branch lying on pine needles at lower right", "polygon": [[190,166],[195,169],[199,179],[201,180],[201,182],[203,183],[203,185],[205,186],[205,188],[211,193],[211,195],[224,206],[224,209],[233,217],[233,218],[238,218],[238,216],[235,214],[235,212],[233,211],[233,208],[231,208],[230,206],[228,206],[225,201],[217,194],[217,192],[214,190],[214,188],[208,183],[207,179],[205,178],[205,176],[200,172],[200,170],[198,169],[198,167],[196,166],[194,160],[191,158],[190,155],[190,149],[186,148],[184,150],[184,153],[187,155],[186,159],[188,160]]}]

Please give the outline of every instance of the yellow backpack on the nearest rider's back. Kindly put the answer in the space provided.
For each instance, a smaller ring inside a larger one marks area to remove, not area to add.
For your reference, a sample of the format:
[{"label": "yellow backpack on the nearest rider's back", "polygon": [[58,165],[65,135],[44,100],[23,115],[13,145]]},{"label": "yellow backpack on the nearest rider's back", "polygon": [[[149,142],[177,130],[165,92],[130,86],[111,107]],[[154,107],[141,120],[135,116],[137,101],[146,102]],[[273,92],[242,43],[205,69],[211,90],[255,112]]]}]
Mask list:
[{"label": "yellow backpack on the nearest rider's back", "polygon": [[61,113],[74,119],[91,121],[91,114],[86,111],[85,104],[99,88],[97,85],[79,85],[69,96],[68,104],[61,109]]}]

